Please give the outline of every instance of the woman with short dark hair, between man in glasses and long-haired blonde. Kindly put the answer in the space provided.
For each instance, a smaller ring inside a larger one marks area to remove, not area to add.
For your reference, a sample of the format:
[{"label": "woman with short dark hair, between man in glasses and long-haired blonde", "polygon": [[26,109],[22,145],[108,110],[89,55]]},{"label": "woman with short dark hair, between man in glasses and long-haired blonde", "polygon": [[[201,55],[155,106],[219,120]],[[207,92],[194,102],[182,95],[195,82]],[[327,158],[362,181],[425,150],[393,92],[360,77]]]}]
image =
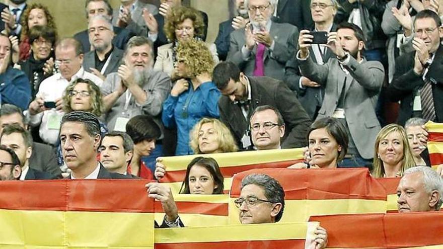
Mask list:
[{"label": "woman with short dark hair, between man in glasses and long-haired blonde", "polygon": [[348,149],[346,129],[334,118],[322,118],[312,123],[307,139],[306,162],[293,164],[289,169],[335,169]]}]

